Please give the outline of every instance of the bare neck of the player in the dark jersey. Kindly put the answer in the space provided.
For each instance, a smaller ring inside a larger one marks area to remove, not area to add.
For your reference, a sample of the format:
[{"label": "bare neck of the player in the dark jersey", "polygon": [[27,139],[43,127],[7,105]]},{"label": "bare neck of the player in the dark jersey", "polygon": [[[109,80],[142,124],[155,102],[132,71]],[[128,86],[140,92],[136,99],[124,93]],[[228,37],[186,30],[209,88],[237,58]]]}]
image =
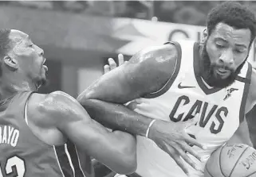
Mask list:
[{"label": "bare neck of the player in the dark jersey", "polygon": [[0,80],[0,100],[10,98],[18,92],[22,91],[35,91],[37,86],[27,79],[14,79],[2,77]]}]

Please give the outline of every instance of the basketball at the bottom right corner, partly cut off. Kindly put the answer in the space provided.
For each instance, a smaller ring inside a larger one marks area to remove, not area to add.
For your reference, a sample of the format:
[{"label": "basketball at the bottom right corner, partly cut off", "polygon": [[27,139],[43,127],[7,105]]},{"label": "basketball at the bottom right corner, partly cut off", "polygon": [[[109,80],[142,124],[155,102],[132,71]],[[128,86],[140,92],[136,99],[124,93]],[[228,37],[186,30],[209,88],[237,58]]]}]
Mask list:
[{"label": "basketball at the bottom right corner, partly cut off", "polygon": [[256,177],[256,150],[246,144],[226,144],[212,153],[205,177]]}]

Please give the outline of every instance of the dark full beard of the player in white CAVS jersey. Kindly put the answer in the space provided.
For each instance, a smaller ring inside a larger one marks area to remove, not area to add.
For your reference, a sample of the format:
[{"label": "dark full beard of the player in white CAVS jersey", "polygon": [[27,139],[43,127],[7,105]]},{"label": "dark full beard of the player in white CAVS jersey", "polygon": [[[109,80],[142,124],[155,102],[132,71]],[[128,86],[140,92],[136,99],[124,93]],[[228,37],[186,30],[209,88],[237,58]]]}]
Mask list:
[{"label": "dark full beard of the player in white CAVS jersey", "polygon": [[[216,63],[211,63],[210,57],[207,52],[207,41],[203,44],[203,49],[201,52],[201,56],[203,59],[203,79],[211,86],[211,87],[219,87],[224,88],[230,86],[232,83],[234,83],[235,78],[238,76],[238,74],[241,72],[241,69],[243,65],[246,63],[246,60],[242,62],[242,64],[234,71],[231,68],[225,69],[230,71],[230,75],[226,79],[222,79],[218,76],[215,76],[214,70],[215,68],[219,68],[222,66],[219,66]],[[246,56],[247,59],[248,56]]]}]

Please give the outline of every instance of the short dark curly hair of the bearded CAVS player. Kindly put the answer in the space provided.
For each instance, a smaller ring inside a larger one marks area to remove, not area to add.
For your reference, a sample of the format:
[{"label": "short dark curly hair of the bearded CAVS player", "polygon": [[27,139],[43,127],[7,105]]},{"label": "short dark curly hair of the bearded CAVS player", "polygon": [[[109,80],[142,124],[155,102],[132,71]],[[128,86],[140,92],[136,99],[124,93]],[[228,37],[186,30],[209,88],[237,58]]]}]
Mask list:
[{"label": "short dark curly hair of the bearded CAVS player", "polygon": [[256,20],[254,13],[246,6],[238,2],[223,2],[208,13],[207,30],[210,36],[215,26],[220,22],[230,25],[235,29],[250,29],[250,45],[253,43],[256,33]]}]

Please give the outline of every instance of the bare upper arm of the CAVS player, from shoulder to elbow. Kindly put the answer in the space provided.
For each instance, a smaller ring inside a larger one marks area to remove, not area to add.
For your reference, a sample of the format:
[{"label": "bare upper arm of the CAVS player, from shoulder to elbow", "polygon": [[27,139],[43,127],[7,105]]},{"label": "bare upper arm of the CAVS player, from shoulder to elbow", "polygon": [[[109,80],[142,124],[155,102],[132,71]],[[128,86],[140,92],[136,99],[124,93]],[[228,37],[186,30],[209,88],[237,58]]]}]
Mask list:
[{"label": "bare upper arm of the CAVS player, from shoulder to elbow", "polygon": [[77,100],[100,99],[125,103],[163,88],[175,71],[178,48],[163,44],[144,48],[128,63],[109,71],[88,87]]}]

